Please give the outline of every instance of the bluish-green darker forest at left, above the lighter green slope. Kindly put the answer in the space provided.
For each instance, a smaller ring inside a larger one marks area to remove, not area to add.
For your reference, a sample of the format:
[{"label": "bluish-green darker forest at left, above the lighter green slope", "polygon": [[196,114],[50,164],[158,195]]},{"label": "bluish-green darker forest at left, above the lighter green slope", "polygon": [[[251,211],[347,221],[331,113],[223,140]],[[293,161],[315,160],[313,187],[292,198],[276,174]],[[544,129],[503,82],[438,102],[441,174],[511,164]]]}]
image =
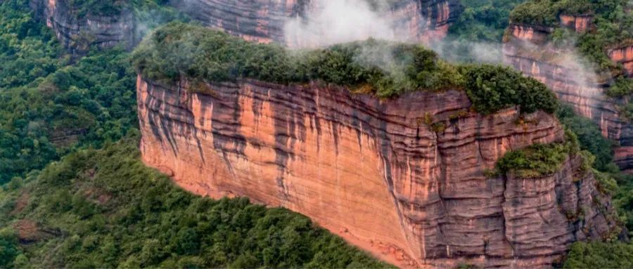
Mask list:
[{"label": "bluish-green darker forest at left, above the lighter green slope", "polygon": [[[162,16],[167,8],[152,10],[139,16],[160,15],[155,23],[176,17]],[[0,184],[74,147],[119,140],[136,126],[136,72],[130,63],[121,48],[91,51],[71,63],[51,31],[32,18],[27,0],[1,1]]]}]

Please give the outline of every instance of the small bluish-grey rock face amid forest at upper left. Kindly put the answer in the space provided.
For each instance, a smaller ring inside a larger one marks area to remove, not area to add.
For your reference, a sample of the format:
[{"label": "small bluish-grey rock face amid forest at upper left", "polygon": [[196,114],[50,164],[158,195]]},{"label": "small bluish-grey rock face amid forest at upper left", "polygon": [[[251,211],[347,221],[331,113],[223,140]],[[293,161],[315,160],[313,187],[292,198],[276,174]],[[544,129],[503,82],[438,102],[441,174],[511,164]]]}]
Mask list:
[{"label": "small bluish-grey rock face amid forest at upper left", "polygon": [[77,14],[77,7],[68,0],[30,0],[35,14],[53,29],[58,40],[72,53],[87,51],[91,46],[111,48],[126,44],[132,48],[136,43],[134,15],[123,11],[112,16]]}]

